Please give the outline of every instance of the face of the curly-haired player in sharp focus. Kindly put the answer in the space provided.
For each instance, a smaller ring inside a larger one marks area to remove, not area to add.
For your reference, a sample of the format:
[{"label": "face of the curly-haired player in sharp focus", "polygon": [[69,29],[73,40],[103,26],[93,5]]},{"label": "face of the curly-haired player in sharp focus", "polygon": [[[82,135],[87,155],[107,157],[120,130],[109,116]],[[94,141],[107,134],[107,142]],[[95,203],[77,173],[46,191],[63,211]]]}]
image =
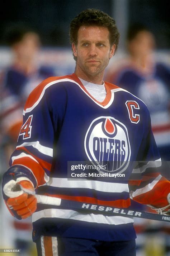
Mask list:
[{"label": "face of the curly-haired player in sharp focus", "polygon": [[110,48],[108,28],[82,26],[77,39],[77,45],[72,44],[77,57],[76,74],[80,77],[103,75],[115,50],[115,45]]}]

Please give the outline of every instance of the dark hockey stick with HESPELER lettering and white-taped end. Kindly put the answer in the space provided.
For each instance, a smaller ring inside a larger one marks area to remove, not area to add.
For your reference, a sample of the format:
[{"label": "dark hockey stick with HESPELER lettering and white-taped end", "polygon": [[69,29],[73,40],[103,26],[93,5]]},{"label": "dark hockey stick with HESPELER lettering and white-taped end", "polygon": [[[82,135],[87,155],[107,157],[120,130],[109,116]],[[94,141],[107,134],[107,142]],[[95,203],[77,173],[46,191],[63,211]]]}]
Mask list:
[{"label": "dark hockey stick with HESPELER lettering and white-taped end", "polygon": [[170,222],[170,216],[161,215],[156,213],[150,212],[143,212],[143,211],[135,211],[134,209],[126,209],[126,208],[116,208],[110,206],[102,206],[90,203],[82,203],[76,202],[71,200],[65,200],[55,197],[49,197],[46,195],[35,195],[37,198],[37,203],[40,204],[49,204],[51,206],[58,206],[58,208],[66,208],[66,209],[75,209],[75,210],[82,210],[87,213],[100,213],[107,216],[124,216],[124,217],[137,217],[142,219],[149,219],[149,220],[159,220]]}]

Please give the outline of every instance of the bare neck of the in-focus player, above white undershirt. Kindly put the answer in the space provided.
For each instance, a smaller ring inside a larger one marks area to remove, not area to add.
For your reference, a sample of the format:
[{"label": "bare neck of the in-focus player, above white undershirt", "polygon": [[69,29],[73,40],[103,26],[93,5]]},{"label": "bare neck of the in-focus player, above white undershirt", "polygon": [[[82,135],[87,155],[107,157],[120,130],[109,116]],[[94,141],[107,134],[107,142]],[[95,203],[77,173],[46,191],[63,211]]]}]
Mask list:
[{"label": "bare neck of the in-focus player, above white undershirt", "polygon": [[89,75],[86,74],[82,71],[80,71],[77,67],[75,69],[75,74],[76,76],[78,76],[79,78],[88,81],[90,83],[93,84],[103,84],[103,76],[104,76],[104,71],[100,72],[100,74],[96,74],[96,75]]}]

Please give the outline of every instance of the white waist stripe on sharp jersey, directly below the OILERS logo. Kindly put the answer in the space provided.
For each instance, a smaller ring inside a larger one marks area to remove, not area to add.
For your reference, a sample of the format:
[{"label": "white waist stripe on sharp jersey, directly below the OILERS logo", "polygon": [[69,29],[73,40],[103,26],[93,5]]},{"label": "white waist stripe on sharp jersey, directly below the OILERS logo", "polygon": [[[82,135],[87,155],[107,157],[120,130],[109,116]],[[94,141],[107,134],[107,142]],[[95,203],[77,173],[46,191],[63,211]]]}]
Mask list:
[{"label": "white waist stripe on sharp jersey, directly below the OILERS logo", "polygon": [[67,178],[49,178],[47,183],[53,187],[63,188],[84,188],[84,189],[95,189],[102,192],[110,193],[122,193],[129,192],[128,184],[113,183],[95,180],[67,180]]}]

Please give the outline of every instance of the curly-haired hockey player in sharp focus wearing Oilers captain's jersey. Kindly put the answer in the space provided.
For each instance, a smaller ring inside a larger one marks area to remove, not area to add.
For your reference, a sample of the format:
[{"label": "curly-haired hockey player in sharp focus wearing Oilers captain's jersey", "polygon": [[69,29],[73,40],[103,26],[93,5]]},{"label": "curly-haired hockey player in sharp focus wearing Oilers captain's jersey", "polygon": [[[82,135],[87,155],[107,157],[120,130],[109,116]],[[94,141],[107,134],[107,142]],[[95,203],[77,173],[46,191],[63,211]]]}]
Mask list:
[{"label": "curly-haired hockey player in sharp focus wearing Oilers captain's jersey", "polygon": [[[170,183],[157,171],[150,173],[161,163],[145,103],[103,82],[118,47],[114,19],[87,9],[72,20],[70,40],[75,73],[44,80],[28,97],[18,145],[3,176],[4,200],[18,219],[33,215],[38,255],[133,256],[133,218],[37,204],[34,196],[36,190],[50,198],[123,208],[129,207],[131,196],[169,211]],[[146,170],[148,179],[128,186],[133,161],[144,160],[134,172]],[[106,162],[107,168],[96,173],[124,173],[126,181],[67,179],[68,161]]]}]

